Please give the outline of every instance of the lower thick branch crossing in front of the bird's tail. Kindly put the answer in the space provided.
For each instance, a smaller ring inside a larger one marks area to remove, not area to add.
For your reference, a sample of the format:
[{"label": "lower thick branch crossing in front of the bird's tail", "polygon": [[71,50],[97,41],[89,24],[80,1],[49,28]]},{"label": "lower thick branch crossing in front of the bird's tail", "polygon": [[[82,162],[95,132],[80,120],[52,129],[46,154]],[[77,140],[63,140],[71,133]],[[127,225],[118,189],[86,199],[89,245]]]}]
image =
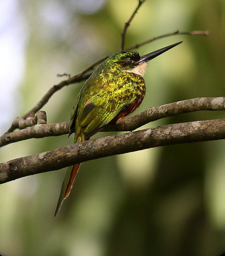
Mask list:
[{"label": "lower thick branch crossing in front of the bird's tail", "polygon": [[225,119],[159,126],[107,136],[0,163],[0,183],[75,163],[180,143],[225,139]]}]

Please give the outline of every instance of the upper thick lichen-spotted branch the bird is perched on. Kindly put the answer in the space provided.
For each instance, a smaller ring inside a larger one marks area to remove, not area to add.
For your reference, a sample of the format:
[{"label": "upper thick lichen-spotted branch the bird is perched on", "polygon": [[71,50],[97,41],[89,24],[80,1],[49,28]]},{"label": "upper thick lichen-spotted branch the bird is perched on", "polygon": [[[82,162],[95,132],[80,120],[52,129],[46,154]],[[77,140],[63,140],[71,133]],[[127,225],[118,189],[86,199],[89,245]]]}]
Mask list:
[{"label": "upper thick lichen-spotted branch the bird is perched on", "polygon": [[[133,131],[142,125],[161,118],[205,110],[225,110],[225,97],[195,98],[149,108],[134,117],[118,120],[116,124],[109,124],[102,131]],[[0,137],[0,147],[25,139],[60,136],[67,133],[69,133],[69,122],[34,125],[2,135]]]}]

